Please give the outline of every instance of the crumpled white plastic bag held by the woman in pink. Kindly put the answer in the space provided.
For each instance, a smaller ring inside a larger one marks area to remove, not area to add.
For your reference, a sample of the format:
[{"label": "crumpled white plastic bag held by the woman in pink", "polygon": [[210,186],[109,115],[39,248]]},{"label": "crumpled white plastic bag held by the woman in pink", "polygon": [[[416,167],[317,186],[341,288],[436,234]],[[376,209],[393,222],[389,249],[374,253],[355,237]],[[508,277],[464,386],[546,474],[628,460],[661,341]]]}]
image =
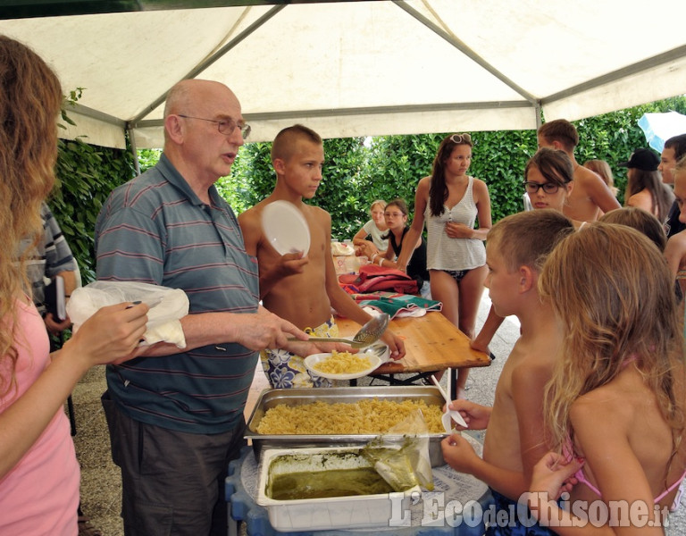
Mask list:
[{"label": "crumpled white plastic bag held by the woman in pink", "polygon": [[142,301],[147,312],[146,333],[142,344],[170,342],[178,348],[186,347],[186,337],[180,319],[188,314],[188,296],[181,289],[170,289],[133,281],[95,281],[75,289],[67,303],[67,314],[74,332],[79,330],[100,307],[126,301]]}]

